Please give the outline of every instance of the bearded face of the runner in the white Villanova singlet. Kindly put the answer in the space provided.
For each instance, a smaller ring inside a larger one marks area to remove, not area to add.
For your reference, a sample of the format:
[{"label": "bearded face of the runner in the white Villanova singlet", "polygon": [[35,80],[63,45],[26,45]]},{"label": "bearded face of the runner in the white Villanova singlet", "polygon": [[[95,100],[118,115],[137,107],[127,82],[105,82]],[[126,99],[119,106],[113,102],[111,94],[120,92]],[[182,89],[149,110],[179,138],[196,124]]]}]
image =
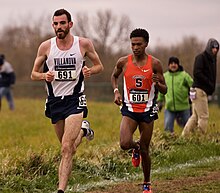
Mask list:
[{"label": "bearded face of the runner in the white Villanova singlet", "polygon": [[57,38],[64,39],[70,31],[73,23],[68,22],[65,14],[53,17],[53,28]]}]

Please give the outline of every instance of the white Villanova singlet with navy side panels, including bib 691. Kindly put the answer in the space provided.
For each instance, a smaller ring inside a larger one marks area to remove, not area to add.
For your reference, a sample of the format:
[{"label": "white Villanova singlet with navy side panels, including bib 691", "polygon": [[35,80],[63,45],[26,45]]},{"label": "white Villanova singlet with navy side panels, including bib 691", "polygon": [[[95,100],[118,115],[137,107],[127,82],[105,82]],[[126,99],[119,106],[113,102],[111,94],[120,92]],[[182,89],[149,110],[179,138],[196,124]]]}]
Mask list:
[{"label": "white Villanova singlet with navy side panels, including bib 691", "polygon": [[73,45],[69,50],[60,50],[56,37],[51,38],[51,48],[46,60],[44,71],[52,71],[55,79],[46,84],[48,96],[67,96],[84,91],[82,67],[85,58],[80,52],[79,37],[74,36]]}]

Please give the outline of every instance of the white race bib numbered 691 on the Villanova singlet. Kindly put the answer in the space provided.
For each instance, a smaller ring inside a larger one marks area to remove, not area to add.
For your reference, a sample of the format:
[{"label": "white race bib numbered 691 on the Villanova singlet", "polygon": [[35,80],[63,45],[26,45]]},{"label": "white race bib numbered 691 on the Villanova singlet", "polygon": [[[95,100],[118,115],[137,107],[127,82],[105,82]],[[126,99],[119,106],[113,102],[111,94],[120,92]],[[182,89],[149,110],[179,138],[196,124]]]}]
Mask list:
[{"label": "white race bib numbered 691 on the Villanova singlet", "polygon": [[76,80],[76,66],[75,65],[55,66],[55,80],[57,81]]}]

